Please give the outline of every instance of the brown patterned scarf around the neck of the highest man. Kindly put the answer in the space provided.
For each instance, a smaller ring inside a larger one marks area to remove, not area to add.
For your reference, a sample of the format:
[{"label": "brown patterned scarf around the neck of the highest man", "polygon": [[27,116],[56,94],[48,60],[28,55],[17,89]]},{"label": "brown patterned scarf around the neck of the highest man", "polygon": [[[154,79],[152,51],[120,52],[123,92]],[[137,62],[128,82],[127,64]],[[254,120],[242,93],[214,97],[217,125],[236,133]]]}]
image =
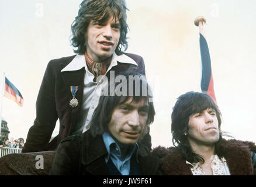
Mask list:
[{"label": "brown patterned scarf around the neck of the highest man", "polygon": [[105,75],[109,64],[110,64],[110,60],[112,59],[112,56],[110,58],[108,58],[107,61],[103,62],[103,63],[97,63],[95,62],[91,57],[88,56],[87,52],[85,51],[85,61],[87,63],[87,67],[88,70],[94,74],[94,81],[97,79],[97,77],[99,75]]}]

